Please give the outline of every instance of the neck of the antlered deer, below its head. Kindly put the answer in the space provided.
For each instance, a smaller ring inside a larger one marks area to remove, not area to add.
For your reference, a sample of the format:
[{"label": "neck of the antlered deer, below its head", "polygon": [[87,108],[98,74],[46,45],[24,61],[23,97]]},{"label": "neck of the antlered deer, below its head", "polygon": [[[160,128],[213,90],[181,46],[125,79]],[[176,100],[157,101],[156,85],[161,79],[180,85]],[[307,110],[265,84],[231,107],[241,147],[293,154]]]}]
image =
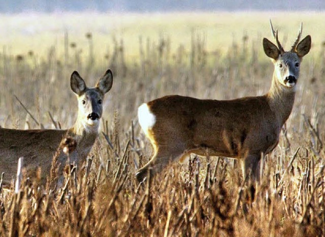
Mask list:
[{"label": "neck of the antlered deer, below its head", "polygon": [[296,86],[293,88],[285,87],[279,82],[276,72],[273,73],[271,88],[266,96],[271,110],[276,114],[278,121],[281,122],[281,126],[288,119],[293,109]]}]

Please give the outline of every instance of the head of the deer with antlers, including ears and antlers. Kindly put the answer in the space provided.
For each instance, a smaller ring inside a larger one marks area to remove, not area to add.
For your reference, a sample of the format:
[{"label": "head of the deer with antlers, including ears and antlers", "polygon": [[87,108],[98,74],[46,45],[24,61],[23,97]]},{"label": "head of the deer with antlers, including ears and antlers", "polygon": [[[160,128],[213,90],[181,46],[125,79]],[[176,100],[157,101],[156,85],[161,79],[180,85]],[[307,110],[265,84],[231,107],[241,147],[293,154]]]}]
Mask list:
[{"label": "head of the deer with antlers, including ears and antlers", "polygon": [[303,24],[300,25],[298,37],[290,51],[284,51],[278,39],[278,30],[274,31],[272,22],[272,35],[277,42],[277,46],[268,39],[263,39],[265,54],[272,59],[277,80],[287,88],[293,88],[297,84],[300,72],[300,63],[311,47],[311,37],[308,35],[300,41]]}]

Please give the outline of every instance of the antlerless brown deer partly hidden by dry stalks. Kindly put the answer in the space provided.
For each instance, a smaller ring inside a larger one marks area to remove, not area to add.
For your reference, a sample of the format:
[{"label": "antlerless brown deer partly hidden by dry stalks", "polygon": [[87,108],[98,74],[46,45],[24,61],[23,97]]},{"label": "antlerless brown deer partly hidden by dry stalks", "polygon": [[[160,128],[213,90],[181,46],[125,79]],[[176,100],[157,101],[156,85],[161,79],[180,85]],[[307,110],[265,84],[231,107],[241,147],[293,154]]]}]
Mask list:
[{"label": "antlerless brown deer partly hidden by dry stalks", "polygon": [[[78,115],[76,123],[68,130],[0,128],[0,172],[5,172],[4,184],[9,184],[15,177],[19,157],[24,157],[27,175],[34,175],[38,167],[41,168],[41,181],[44,184],[50,174],[53,155],[63,137],[70,136],[77,142],[76,149],[70,154],[71,162],[78,164],[84,161],[98,136],[104,95],[112,84],[111,70],[107,70],[93,88],[86,86],[78,72],[72,73],[70,85],[77,95]],[[67,156],[62,151],[58,162],[61,172],[67,163]]]}]

